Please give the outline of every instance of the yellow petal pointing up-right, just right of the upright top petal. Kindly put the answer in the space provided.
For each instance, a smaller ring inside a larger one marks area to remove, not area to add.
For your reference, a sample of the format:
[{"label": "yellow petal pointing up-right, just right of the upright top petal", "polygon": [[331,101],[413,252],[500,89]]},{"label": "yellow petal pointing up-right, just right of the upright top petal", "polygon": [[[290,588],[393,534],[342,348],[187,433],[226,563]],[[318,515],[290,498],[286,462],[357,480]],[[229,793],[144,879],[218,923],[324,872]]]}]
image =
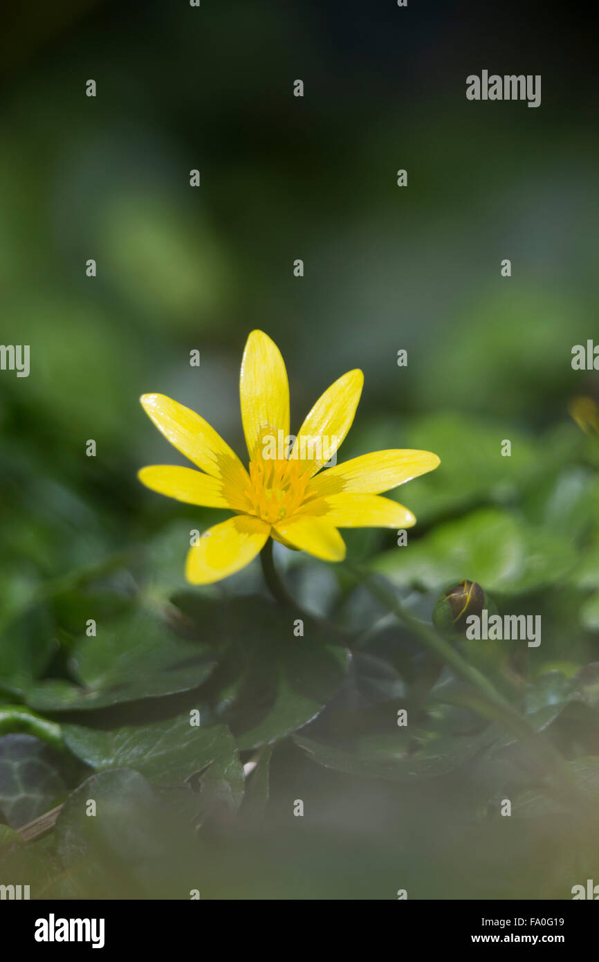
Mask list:
[{"label": "yellow petal pointing up-right, just right of the upright top petal", "polygon": [[363,383],[362,371],[356,368],[337,378],[318,398],[289,455],[299,459],[302,470],[315,474],[333,457],[352,426]]}]

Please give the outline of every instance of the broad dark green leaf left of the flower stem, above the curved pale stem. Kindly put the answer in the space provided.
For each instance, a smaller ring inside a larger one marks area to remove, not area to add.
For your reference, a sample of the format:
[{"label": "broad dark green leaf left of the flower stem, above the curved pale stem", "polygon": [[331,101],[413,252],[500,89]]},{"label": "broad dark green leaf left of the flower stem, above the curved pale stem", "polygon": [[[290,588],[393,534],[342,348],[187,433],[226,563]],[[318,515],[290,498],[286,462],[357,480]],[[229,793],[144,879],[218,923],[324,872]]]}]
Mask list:
[{"label": "broad dark green leaf left of the flower stem, above the curved pale stem", "polygon": [[74,648],[70,667],[78,684],[49,679],[27,690],[39,711],[80,711],[198,688],[212,673],[207,646],[177,637],[158,614],[138,610],[98,625],[95,638]]}]

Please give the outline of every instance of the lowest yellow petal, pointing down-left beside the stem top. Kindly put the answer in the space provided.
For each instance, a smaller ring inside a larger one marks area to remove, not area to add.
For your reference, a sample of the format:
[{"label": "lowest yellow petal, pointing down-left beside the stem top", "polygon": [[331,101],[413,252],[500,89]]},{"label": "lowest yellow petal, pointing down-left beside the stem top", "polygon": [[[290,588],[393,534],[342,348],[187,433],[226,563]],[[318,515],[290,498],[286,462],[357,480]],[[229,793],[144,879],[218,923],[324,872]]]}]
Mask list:
[{"label": "lowest yellow petal, pointing down-left beside the stem top", "polygon": [[210,585],[249,565],[268,539],[270,525],[237,515],[205,531],[189,549],[186,577],[192,585]]}]

